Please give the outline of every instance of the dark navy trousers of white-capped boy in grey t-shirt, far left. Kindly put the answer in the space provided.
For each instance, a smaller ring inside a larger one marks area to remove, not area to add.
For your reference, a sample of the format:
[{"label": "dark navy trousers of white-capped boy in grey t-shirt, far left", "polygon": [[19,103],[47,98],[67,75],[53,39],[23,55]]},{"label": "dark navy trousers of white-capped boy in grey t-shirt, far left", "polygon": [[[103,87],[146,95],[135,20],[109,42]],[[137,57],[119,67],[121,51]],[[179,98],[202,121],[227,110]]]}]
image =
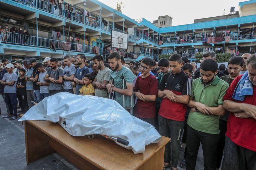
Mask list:
[{"label": "dark navy trousers of white-capped boy in grey t-shirt, far left", "polygon": [[17,94],[5,93],[5,102],[9,107],[9,114],[17,116]]}]

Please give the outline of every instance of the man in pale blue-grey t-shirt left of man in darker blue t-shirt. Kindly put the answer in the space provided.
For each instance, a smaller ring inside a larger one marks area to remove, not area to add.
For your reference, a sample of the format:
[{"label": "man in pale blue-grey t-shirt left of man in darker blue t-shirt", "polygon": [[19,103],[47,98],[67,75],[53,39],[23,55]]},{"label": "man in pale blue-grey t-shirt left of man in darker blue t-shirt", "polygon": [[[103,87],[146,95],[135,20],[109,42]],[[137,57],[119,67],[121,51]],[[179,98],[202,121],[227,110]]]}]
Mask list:
[{"label": "man in pale blue-grey t-shirt left of man in darker blue t-shirt", "polygon": [[63,75],[63,91],[64,92],[69,92],[71,94],[74,94],[73,91],[73,85],[71,82],[73,81],[75,77],[75,66],[74,64],[71,63],[71,57],[69,55],[66,55],[63,58],[64,61],[64,75]]}]

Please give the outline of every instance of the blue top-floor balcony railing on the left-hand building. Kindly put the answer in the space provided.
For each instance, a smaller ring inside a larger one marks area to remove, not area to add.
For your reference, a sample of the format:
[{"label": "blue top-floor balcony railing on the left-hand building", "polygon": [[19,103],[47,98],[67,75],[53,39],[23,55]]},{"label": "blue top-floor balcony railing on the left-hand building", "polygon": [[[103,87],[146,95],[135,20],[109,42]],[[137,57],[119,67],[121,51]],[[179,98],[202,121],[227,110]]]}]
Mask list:
[{"label": "blue top-floor balcony railing on the left-hand building", "polygon": [[111,30],[109,30],[108,27],[105,27],[102,22],[96,21],[95,18],[83,16],[77,12],[59,8],[58,6],[43,0],[14,0],[14,1],[18,1],[22,4],[36,7],[39,10],[46,11],[46,12],[64,17],[66,19],[70,19],[70,20],[82,23],[82,24],[86,24],[91,27],[95,27],[95,28],[99,28],[99,29],[103,29],[105,31],[111,32]]}]

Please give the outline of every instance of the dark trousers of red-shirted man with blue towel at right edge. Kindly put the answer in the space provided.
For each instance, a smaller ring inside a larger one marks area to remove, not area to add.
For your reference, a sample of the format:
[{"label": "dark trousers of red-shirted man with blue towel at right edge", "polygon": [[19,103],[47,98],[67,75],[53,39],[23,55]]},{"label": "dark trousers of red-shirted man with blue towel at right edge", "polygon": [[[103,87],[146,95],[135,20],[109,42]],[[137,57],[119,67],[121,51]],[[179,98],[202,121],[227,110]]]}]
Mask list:
[{"label": "dark trousers of red-shirted man with blue towel at right edge", "polygon": [[256,170],[255,151],[236,145],[227,136],[224,151],[222,170]]}]

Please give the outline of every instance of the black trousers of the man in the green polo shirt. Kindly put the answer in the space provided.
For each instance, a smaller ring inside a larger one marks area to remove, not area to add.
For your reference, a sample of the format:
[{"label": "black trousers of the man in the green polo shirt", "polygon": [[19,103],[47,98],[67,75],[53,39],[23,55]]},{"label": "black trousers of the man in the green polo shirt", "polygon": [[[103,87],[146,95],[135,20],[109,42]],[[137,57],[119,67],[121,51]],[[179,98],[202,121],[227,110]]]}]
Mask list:
[{"label": "black trousers of the man in the green polo shirt", "polygon": [[216,170],[217,145],[219,134],[208,134],[187,127],[187,155],[186,155],[186,170],[196,169],[197,153],[202,143],[204,170]]}]

